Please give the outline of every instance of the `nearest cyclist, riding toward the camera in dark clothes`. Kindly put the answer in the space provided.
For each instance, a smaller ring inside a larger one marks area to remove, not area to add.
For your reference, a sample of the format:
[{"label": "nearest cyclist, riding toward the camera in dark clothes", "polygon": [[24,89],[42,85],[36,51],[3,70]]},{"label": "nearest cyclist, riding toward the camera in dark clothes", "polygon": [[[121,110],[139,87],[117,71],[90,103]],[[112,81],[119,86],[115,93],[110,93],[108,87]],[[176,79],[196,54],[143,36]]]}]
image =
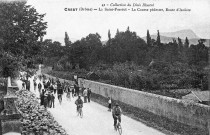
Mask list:
[{"label": "nearest cyclist, riding toward the camera in dark clothes", "polygon": [[113,116],[113,119],[114,119],[114,128],[115,129],[116,129],[116,124],[117,124],[117,119],[121,123],[121,114],[122,114],[122,110],[121,110],[119,104],[116,103],[115,107],[112,110],[112,116]]}]

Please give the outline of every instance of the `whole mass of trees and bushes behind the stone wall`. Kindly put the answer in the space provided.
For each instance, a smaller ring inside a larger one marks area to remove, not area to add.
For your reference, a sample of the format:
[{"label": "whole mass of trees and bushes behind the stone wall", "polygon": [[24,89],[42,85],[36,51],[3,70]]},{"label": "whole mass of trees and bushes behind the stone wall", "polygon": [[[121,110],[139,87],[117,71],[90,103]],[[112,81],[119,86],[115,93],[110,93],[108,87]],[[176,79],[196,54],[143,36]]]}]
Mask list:
[{"label": "whole mass of trees and bushes behind the stone wall", "polygon": [[138,90],[207,89],[204,68],[208,65],[208,47],[204,39],[197,45],[190,45],[187,37],[185,41],[178,37],[161,43],[159,31],[155,40],[148,30],[145,42],[129,27],[125,32],[117,30],[113,38],[108,31],[108,41],[103,45],[98,33],[74,43],[69,41],[67,33],[65,35],[68,46],[48,43],[50,47],[45,54],[49,55],[44,57],[54,70],[75,72],[83,69],[82,76],[94,71],[100,81]]}]

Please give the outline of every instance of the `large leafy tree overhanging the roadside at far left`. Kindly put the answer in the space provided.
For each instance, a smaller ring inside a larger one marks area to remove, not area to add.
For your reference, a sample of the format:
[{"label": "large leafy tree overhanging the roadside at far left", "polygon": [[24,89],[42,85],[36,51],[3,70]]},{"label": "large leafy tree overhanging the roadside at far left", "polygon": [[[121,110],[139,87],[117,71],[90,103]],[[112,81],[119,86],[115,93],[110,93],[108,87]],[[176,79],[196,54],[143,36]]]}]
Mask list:
[{"label": "large leafy tree overhanging the roadside at far left", "polygon": [[[24,66],[34,67],[32,65],[41,48],[38,40],[46,34],[47,23],[43,22],[44,16],[45,14],[39,14],[36,9],[26,5],[26,2],[0,3],[0,48],[10,55],[3,56],[3,59],[16,59],[21,63],[17,64],[19,67],[16,70],[21,70]],[[10,75],[12,73],[8,72],[7,76]]]}]

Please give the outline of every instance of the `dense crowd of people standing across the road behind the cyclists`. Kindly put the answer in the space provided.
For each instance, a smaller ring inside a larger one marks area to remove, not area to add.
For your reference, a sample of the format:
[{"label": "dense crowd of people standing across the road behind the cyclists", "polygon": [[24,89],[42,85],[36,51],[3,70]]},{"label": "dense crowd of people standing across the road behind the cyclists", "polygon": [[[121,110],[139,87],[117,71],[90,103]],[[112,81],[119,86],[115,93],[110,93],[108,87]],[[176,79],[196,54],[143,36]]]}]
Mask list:
[{"label": "dense crowd of people standing across the road behind the cyclists", "polygon": [[[37,84],[37,79],[39,78],[39,83]],[[34,91],[38,89],[40,94],[40,104],[45,108],[55,107],[55,97],[59,104],[62,104],[64,93],[66,94],[67,101],[71,101],[71,98],[83,97],[84,103],[90,102],[91,89],[90,88],[80,88],[78,82],[75,81],[74,84],[69,82],[61,82],[58,78],[46,78],[45,76],[34,77]]]}]

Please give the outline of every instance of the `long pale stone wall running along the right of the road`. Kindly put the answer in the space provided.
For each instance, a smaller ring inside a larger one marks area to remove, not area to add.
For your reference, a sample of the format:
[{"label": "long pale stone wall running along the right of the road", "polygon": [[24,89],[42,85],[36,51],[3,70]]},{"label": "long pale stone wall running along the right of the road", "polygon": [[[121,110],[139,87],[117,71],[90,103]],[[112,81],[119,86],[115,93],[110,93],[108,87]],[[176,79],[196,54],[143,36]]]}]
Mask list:
[{"label": "long pale stone wall running along the right of the road", "polygon": [[193,127],[208,127],[210,106],[186,102],[179,99],[113,86],[109,84],[79,79],[79,85],[91,88],[93,93],[132,105],[159,116]]}]

